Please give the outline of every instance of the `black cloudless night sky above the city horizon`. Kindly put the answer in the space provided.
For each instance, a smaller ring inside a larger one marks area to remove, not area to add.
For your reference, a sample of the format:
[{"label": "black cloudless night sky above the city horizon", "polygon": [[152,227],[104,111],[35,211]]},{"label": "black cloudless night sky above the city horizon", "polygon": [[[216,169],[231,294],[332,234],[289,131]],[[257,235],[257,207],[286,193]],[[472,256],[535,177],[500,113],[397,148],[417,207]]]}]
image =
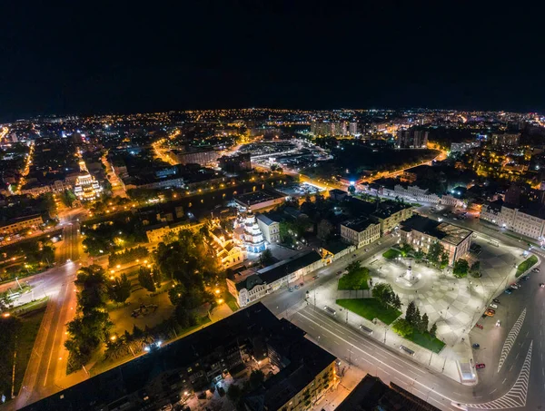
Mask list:
[{"label": "black cloudless night sky above the city horizon", "polygon": [[543,10],[477,3],[5,0],[0,119],[252,106],[545,111]]}]

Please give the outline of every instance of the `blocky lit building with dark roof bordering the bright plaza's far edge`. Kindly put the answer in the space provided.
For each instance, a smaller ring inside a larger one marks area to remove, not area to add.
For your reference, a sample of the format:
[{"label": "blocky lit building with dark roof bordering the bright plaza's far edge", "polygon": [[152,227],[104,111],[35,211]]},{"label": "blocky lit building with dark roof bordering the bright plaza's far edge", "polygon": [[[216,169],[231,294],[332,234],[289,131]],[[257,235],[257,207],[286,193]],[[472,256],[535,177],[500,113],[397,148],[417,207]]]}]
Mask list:
[{"label": "blocky lit building with dark roof bordering the bright plaza's far edge", "polygon": [[427,253],[431,244],[439,241],[449,254],[449,263],[465,256],[471,247],[473,231],[448,222],[430,220],[419,215],[412,216],[401,224],[401,242],[414,250]]}]

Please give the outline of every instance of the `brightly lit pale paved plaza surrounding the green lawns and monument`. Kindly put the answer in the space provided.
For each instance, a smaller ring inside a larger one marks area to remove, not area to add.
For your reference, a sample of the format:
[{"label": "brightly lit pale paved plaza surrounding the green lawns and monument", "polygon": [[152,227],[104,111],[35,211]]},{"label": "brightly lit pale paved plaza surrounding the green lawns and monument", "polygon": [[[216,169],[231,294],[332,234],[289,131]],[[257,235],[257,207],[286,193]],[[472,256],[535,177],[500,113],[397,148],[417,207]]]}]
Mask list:
[{"label": "brightly lit pale paved plaza surrounding the green lawns and monument", "polygon": [[[515,280],[515,264],[527,259],[520,248],[499,244],[487,238],[477,236],[473,240],[481,246],[481,278],[475,279],[468,276],[465,279],[456,279],[451,274],[451,269],[439,270],[428,267],[425,263],[416,263],[411,259],[384,259],[381,254],[364,259],[362,265],[371,270],[373,285],[379,282],[388,282],[392,289],[400,296],[403,304],[402,310],[407,308],[409,302],[414,301],[421,314],[428,314],[430,326],[437,324],[437,338],[445,342],[446,346],[438,356],[438,366],[444,368],[443,359],[467,363],[472,358],[471,342],[468,334],[474,324],[479,322],[481,314],[492,298],[500,295],[503,290]],[[476,258],[468,256],[470,264]],[[411,265],[412,275],[420,279],[414,284],[401,280]],[[346,323],[358,327],[365,324],[375,329],[371,321],[361,318],[335,304],[338,298],[369,298],[371,290],[347,291],[337,289],[337,280],[332,279],[315,290],[317,305],[329,305],[338,310],[337,318]],[[313,291],[311,291],[313,292]],[[310,295],[312,301],[313,295]],[[381,331],[382,335],[384,331]],[[390,340],[398,340],[393,332],[389,333]],[[420,360],[431,358],[431,352],[406,340],[402,342],[411,347],[417,353]],[[431,364],[433,365],[433,364]],[[450,373],[456,378],[455,373]]]}]

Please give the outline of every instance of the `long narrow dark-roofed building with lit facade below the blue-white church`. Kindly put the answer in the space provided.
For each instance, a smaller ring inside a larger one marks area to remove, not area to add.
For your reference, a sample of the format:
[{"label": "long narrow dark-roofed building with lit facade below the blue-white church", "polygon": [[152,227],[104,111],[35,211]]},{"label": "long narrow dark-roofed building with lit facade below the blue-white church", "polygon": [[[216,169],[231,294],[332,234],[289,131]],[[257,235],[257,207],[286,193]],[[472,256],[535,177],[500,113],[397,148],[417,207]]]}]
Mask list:
[{"label": "long narrow dark-roofed building with lit facade below the blue-white church", "polygon": [[282,287],[295,286],[312,271],[323,267],[323,259],[316,251],[305,251],[264,269],[248,269],[226,279],[227,289],[240,307],[263,298]]}]

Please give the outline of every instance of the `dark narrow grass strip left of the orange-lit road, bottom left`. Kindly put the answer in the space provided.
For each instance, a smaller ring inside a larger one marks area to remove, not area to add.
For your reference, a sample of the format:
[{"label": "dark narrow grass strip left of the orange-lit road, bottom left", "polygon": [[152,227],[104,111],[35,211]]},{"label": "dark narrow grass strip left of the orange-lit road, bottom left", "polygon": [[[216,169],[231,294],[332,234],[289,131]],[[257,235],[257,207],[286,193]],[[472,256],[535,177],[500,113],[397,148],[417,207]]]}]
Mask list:
[{"label": "dark narrow grass strip left of the orange-lit road, bottom left", "polygon": [[38,330],[45,314],[46,300],[37,304],[32,311],[26,311],[21,317],[21,328],[17,336],[17,363],[15,364],[15,395],[25,377],[26,365],[32,354]]}]

